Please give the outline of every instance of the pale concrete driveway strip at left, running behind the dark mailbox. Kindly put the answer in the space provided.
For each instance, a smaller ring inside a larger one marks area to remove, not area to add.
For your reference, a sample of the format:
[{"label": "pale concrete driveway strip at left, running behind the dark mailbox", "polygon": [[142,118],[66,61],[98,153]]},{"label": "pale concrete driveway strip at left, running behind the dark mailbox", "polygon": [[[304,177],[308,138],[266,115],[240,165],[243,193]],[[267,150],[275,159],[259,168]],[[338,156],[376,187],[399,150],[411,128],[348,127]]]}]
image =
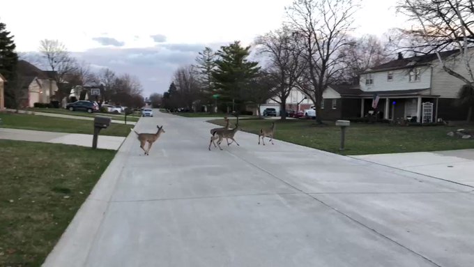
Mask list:
[{"label": "pale concrete driveway strip at left, running behind the dark mailbox", "polygon": [[[46,142],[55,144],[73,144],[92,147],[93,135],[70,134],[66,132],[43,132],[36,130],[20,130],[0,128],[0,139]],[[117,150],[125,137],[99,135],[97,148]]]}]

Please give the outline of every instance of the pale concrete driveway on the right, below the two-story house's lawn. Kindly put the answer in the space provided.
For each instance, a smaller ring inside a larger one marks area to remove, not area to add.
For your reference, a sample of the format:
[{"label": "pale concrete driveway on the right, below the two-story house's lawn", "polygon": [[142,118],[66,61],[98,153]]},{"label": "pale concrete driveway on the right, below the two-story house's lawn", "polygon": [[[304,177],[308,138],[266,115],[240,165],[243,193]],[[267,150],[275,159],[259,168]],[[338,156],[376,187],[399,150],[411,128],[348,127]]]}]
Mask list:
[{"label": "pale concrete driveway on the right, below the two-story house's lawn", "polygon": [[474,149],[354,155],[352,157],[474,188]]}]

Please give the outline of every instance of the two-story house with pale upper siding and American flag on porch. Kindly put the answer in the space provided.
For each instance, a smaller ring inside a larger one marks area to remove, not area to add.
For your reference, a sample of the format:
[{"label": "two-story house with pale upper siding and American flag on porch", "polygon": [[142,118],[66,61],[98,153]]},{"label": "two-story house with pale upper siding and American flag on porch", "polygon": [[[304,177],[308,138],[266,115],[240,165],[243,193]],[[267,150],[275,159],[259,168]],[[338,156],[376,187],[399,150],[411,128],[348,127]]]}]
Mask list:
[{"label": "two-story house with pale upper siding and American flag on porch", "polygon": [[[468,77],[459,50],[441,52],[440,56],[445,66]],[[397,60],[362,73],[360,113],[364,116],[374,110],[372,99],[379,96],[375,112],[380,112],[385,119],[412,119],[422,123],[461,120],[467,110],[457,105],[457,94],[463,84],[461,79],[443,70],[436,54],[406,59],[399,54]]]}]

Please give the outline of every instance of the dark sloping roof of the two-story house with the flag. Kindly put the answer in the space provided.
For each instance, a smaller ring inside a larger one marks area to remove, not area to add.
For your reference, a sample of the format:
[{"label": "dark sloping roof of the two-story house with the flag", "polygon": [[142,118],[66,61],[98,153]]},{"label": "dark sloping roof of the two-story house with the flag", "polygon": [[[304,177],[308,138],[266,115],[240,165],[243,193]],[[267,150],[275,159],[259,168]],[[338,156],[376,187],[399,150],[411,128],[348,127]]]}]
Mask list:
[{"label": "dark sloping roof of the two-story house with the flag", "polygon": [[[454,49],[454,50],[440,52],[439,54],[441,58],[444,59],[458,52],[459,52],[459,49]],[[438,56],[436,54],[424,54],[420,56],[411,56],[406,59],[396,59],[396,60],[389,61],[387,63],[383,63],[374,68],[370,68],[364,73],[378,73],[378,72],[386,71],[386,70],[397,70],[397,69],[402,69],[402,68],[413,68],[415,66],[425,66],[431,61],[434,61],[436,59],[438,59]]]}]

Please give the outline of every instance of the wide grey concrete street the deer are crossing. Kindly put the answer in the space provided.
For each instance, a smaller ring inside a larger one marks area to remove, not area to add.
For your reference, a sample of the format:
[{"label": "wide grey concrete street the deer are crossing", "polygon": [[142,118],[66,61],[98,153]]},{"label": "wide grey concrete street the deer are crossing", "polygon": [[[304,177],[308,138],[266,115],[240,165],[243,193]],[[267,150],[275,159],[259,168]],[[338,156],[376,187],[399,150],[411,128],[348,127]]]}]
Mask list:
[{"label": "wide grey concrete street the deer are crossing", "polygon": [[45,266],[472,266],[473,188],[156,112]]}]

